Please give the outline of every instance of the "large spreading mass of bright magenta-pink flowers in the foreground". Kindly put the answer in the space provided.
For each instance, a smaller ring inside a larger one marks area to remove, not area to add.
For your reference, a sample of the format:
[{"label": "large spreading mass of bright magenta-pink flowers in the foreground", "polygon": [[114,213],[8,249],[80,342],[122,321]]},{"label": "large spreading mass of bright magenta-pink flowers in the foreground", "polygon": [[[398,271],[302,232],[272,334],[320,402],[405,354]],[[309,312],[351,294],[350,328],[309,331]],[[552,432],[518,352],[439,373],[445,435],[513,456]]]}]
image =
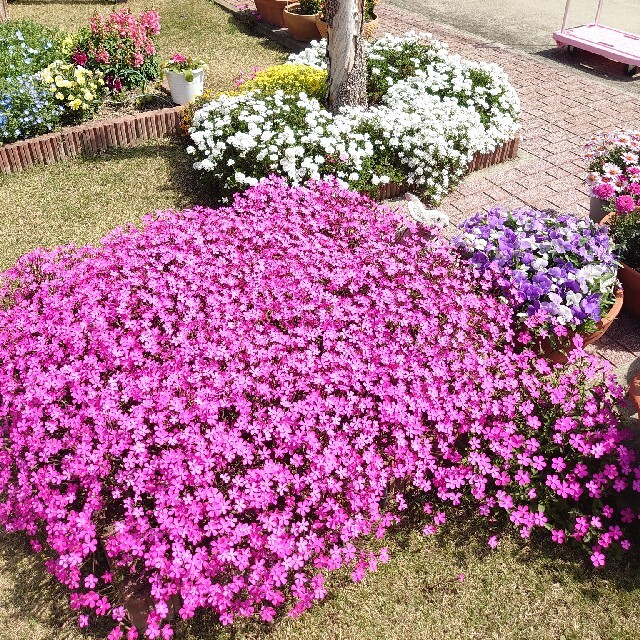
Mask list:
[{"label": "large spreading mass of bright magenta-pink flowers in the foreground", "polygon": [[[398,242],[405,223],[273,179],[4,274],[0,522],[46,549],[81,625],[137,636],[94,574],[100,540],[148,580],[149,638],[171,636],[174,594],[183,618],[299,615],[327,571],[386,561],[360,542],[410,498],[426,533],[472,504],[595,565],[628,546],[620,390],[579,350],[555,371],[522,351],[491,283],[437,237]],[[393,478],[409,490],[385,499]]]}]

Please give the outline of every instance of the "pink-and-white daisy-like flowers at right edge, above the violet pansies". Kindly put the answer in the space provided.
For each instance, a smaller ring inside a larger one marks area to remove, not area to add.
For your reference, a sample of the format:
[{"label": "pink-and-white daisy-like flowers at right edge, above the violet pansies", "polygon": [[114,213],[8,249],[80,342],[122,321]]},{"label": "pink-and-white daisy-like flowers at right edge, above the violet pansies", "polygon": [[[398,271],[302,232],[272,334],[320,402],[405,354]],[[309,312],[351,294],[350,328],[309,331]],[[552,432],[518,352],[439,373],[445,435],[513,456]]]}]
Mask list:
[{"label": "pink-and-white daisy-like flowers at right edge, above the violet pansies", "polygon": [[600,132],[585,145],[583,158],[589,161],[587,186],[592,220],[600,222],[615,198],[640,196],[639,154],[640,131]]}]

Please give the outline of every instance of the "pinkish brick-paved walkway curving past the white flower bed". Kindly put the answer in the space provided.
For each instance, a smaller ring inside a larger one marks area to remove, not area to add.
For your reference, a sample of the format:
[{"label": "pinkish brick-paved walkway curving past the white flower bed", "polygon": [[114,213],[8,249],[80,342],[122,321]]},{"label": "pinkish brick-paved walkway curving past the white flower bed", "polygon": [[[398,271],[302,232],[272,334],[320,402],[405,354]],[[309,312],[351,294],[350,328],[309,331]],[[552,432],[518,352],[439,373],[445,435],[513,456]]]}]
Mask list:
[{"label": "pinkish brick-paved walkway curving past the white flower bed", "polygon": [[[382,5],[378,13],[382,32],[428,31],[447,42],[453,53],[499,64],[518,91],[520,157],[468,176],[440,207],[453,223],[496,204],[587,215],[589,194],[580,158],[585,139],[598,130],[637,127],[640,99],[397,7]],[[595,350],[629,382],[640,370],[640,323],[621,314]]]}]

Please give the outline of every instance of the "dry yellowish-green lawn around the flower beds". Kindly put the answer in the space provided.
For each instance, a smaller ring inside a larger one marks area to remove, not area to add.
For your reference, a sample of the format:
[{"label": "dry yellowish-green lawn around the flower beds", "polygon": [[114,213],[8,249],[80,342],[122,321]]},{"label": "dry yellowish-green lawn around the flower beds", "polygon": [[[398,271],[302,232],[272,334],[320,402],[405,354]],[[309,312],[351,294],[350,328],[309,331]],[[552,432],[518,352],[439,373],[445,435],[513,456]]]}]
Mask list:
[{"label": "dry yellowish-green lawn around the flower beds", "polygon": [[[148,2],[133,2],[136,10]],[[13,17],[67,28],[102,2],[12,4]],[[186,51],[211,64],[210,85],[284,54],[245,33],[205,0],[156,0],[166,55]],[[38,246],[96,242],[156,209],[206,204],[181,143],[160,141],[92,159],[0,176],[0,269]],[[178,640],[635,640],[640,629],[638,565],[596,573],[565,548],[505,540],[494,552],[475,522],[424,538],[394,534],[391,562],[355,585],[332,576],[327,601],[298,620],[220,628],[204,613],[177,626]],[[75,626],[66,591],[20,536],[0,536],[0,640],[105,637]],[[463,573],[465,580],[457,580]]]}]

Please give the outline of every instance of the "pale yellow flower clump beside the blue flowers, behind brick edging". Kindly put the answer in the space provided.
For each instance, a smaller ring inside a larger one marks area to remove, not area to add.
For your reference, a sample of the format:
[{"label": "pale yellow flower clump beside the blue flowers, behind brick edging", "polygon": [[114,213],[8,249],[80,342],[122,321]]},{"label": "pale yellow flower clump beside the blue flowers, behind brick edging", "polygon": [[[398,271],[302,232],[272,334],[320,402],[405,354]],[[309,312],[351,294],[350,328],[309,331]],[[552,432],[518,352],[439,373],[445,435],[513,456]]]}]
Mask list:
[{"label": "pale yellow flower clump beside the blue flowers, behind brick edging", "polygon": [[69,120],[81,120],[100,104],[104,80],[100,72],[55,60],[40,72],[40,82],[68,114]]}]

